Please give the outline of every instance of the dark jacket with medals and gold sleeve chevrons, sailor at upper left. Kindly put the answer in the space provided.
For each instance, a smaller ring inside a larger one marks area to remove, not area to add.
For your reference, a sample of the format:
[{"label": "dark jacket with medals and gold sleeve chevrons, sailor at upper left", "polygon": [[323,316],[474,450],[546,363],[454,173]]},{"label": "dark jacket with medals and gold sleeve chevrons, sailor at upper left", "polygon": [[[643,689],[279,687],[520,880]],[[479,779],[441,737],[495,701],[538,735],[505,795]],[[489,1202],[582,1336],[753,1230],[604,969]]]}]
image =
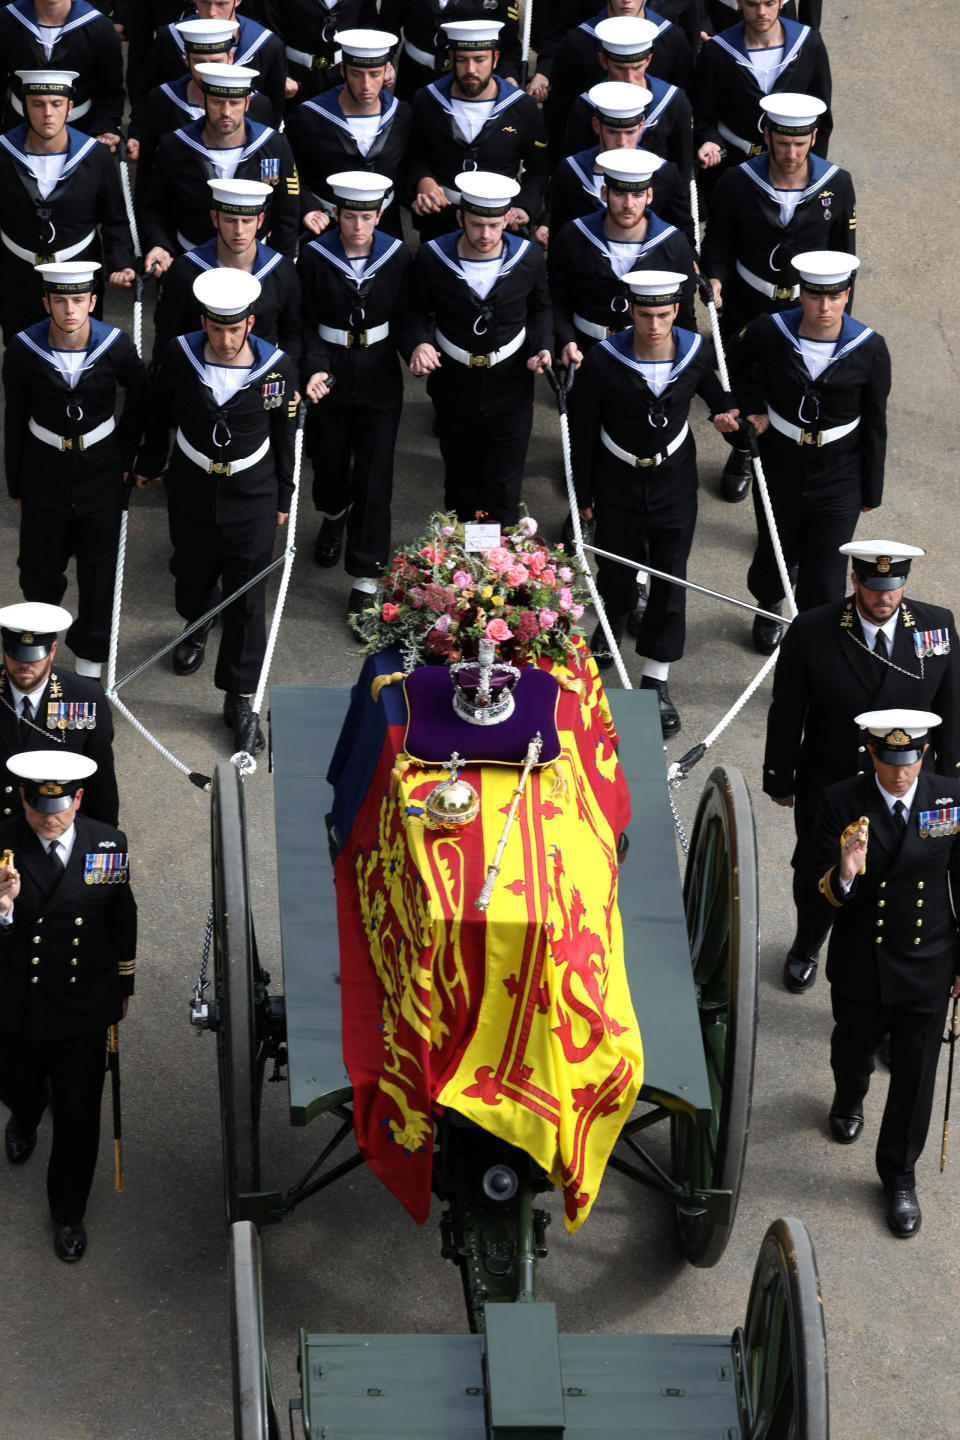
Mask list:
[{"label": "dark jacket with medals and gold sleeve chevrons, sailor at upper left", "polygon": [[[157,147],[141,209],[144,253],[161,245],[178,255],[213,235],[207,180],[217,179],[216,150],[203,144],[203,120],[194,120],[164,135]],[[275,251],[294,255],[301,216],[299,176],[286,137],[248,120],[243,151],[232,179],[273,186],[266,200],[265,238]]]}]

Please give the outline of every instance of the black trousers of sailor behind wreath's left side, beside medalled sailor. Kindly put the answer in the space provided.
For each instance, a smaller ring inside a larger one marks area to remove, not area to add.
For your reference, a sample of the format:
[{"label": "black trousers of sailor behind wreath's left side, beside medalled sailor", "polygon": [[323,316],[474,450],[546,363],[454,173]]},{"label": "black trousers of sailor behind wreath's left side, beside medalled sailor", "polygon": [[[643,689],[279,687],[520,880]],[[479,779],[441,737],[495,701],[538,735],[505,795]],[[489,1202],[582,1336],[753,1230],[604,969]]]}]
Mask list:
[{"label": "black trousers of sailor behind wreath's left side, beside medalled sailor", "polygon": [[314,462],[314,504],[347,517],[347,575],[377,576],[390,559],[393,452],[403,396],[389,409],[331,405],[327,396],[311,409],[307,436]]}]

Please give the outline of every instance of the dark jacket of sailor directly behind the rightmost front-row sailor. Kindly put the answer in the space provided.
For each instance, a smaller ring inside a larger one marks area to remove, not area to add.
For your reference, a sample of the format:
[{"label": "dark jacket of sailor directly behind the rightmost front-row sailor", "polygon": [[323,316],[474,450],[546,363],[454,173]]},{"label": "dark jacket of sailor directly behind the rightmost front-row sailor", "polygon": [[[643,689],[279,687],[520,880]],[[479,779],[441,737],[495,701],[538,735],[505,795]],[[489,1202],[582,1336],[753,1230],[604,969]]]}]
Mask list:
[{"label": "dark jacket of sailor directly behind the rightmost front-row sailor", "polygon": [[[796,304],[799,281],[792,266],[805,251],[856,253],[856,196],[846,170],[809,157],[807,184],[784,225],[779,192],[770,184],[770,157],[757,156],[727,170],[717,181],[701,249],[704,275],[724,287],[724,305],[741,323]],[[737,262],[779,289],[764,295],[740,275]],[[851,285],[852,289],[852,285]],[[851,295],[852,300],[852,295]]]}]

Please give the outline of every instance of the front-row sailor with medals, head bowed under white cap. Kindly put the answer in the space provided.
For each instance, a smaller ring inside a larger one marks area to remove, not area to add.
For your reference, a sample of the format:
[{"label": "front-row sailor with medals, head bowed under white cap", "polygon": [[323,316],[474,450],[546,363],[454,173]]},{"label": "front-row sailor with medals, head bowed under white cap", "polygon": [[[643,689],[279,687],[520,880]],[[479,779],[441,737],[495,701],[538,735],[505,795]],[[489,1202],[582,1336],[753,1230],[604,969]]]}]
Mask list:
[{"label": "front-row sailor with medals, head bowed under white cap", "polygon": [[[173,340],[160,363],[137,484],[160,477],[168,435],[176,444],[166,474],[177,612],[200,619],[269,564],[294,492],[296,372],[258,338],[253,311],[261,284],[237,269],[204,271],[193,282],[201,328]],[[266,582],[223,611],[214,684],[226,691],[223,721],[237,749],[249,749],[250,696],[266,649]],[[189,675],[203,662],[209,622],[177,645],[173,668]],[[253,746],[263,747],[258,727]]]}]

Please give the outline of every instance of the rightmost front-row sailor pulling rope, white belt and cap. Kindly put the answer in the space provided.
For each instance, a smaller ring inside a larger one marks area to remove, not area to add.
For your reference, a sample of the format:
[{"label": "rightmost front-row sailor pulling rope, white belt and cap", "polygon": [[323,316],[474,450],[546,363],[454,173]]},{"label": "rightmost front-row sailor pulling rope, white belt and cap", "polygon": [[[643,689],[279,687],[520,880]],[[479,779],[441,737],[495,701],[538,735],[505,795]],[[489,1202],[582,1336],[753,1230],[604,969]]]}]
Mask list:
[{"label": "rightmost front-row sailor pulling rope, white belt and cap", "polygon": [[[711,42],[712,43],[712,42]],[[797,609],[843,595],[839,553],[856,517],[884,494],[889,353],[882,336],[845,312],[859,261],[843,251],[793,256],[800,304],[757,315],[730,344],[741,409],[760,455],[787,570],[796,566]],[[747,585],[763,609],[779,609],[783,582],[754,491],[757,549]],[[771,654],[782,626],[757,616],[753,642]]]}]

